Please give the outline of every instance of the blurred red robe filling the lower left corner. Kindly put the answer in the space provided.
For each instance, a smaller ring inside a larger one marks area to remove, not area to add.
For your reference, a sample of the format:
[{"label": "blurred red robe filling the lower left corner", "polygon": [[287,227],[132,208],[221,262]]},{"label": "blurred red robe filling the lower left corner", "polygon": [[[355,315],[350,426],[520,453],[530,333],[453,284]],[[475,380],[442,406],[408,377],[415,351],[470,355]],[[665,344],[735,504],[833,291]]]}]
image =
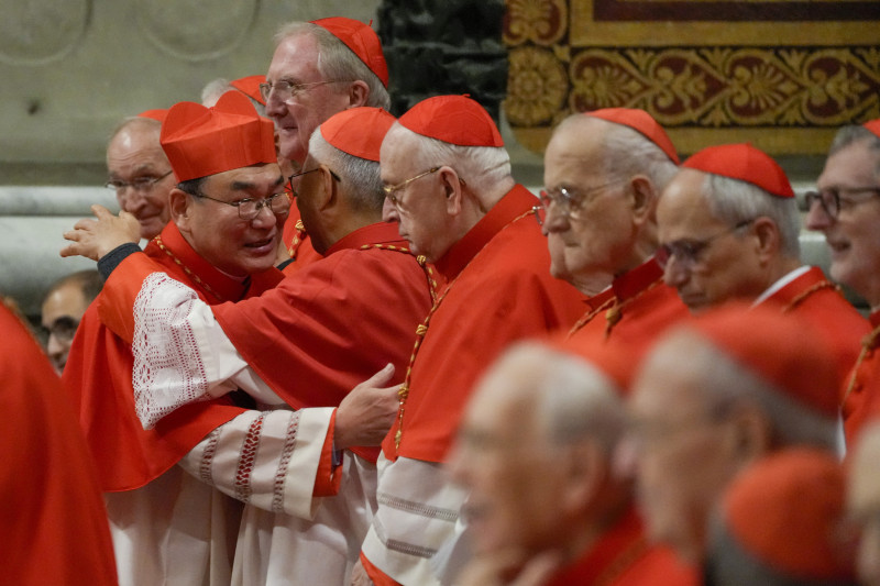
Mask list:
[{"label": "blurred red robe filling the lower left corner", "polygon": [[4,584],[117,584],[91,456],[57,375],[0,303],[0,566]]}]

